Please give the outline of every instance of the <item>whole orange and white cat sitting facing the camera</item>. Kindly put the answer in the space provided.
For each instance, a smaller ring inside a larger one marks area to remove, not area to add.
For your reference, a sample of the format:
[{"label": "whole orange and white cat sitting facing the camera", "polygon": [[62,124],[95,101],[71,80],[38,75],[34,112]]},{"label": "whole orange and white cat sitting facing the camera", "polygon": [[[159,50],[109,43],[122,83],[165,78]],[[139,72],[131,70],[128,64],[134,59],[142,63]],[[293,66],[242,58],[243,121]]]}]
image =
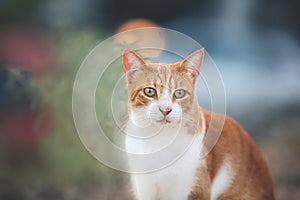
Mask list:
[{"label": "whole orange and white cat sitting facing the camera", "polygon": [[[182,143],[192,141],[174,163],[157,171],[131,174],[133,195],[137,200],[272,200],[268,166],[254,140],[233,119],[224,116],[215,146],[201,157],[212,115],[222,118],[202,109],[195,97],[203,58],[203,48],[173,64],[150,63],[134,51],[124,51],[130,105],[125,148],[129,154],[145,157],[145,162],[128,158],[129,169],[146,169],[152,163],[147,163],[147,156],[177,136]],[[180,142],[176,145],[174,150],[182,148]],[[153,166],[166,158],[154,161]]]}]

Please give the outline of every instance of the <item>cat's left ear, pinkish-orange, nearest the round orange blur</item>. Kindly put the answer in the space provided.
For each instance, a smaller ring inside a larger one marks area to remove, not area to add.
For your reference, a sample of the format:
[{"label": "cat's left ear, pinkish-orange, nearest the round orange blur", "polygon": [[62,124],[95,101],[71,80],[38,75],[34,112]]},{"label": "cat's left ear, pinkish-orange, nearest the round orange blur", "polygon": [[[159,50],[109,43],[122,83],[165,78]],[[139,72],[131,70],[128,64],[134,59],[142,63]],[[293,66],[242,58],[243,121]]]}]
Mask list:
[{"label": "cat's left ear, pinkish-orange, nearest the round orange blur", "polygon": [[140,57],[137,53],[130,50],[125,50],[122,56],[122,63],[124,74],[127,74],[129,71],[130,73],[136,71],[141,66],[145,66],[146,62],[142,57]]}]

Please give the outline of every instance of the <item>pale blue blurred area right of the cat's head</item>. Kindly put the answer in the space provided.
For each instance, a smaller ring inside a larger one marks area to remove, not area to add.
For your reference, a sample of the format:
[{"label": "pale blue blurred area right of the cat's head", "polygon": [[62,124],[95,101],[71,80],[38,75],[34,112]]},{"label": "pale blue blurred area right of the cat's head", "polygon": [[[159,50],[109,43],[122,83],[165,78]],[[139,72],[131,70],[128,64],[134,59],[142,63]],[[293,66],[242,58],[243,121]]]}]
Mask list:
[{"label": "pale blue blurred area right of the cat's head", "polygon": [[[247,21],[180,18],[167,27],[206,47],[224,80],[228,113],[242,117],[253,108],[270,109],[300,99],[300,45],[285,30],[253,29]],[[199,91],[200,92],[200,91]]]}]

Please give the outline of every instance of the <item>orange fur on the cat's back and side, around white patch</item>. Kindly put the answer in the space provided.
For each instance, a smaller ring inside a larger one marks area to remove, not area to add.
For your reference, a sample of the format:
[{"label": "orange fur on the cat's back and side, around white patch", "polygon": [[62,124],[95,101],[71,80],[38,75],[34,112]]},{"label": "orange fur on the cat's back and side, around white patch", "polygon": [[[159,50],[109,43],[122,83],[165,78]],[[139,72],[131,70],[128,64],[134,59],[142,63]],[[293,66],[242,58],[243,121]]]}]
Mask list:
[{"label": "orange fur on the cat's back and side, around white patch", "polygon": [[[211,115],[211,112],[204,111],[206,130],[210,126]],[[190,200],[209,199],[211,183],[225,157],[233,161],[233,169],[237,176],[226,193],[218,198],[219,200],[274,199],[270,172],[259,148],[237,122],[226,117],[218,142],[205,157],[205,165],[199,167],[197,171],[196,176],[201,179],[197,180],[189,196]]]}]

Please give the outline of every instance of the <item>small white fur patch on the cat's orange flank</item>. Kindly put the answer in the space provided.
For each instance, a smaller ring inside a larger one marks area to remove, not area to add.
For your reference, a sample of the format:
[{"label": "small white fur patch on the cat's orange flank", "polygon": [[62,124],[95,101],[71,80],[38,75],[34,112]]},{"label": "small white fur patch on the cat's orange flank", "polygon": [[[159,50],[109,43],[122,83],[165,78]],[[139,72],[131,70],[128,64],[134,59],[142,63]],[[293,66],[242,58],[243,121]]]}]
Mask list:
[{"label": "small white fur patch on the cat's orange flank", "polygon": [[234,176],[235,173],[231,167],[230,160],[225,159],[221,169],[213,180],[210,199],[216,200],[224,193],[230,187]]}]

